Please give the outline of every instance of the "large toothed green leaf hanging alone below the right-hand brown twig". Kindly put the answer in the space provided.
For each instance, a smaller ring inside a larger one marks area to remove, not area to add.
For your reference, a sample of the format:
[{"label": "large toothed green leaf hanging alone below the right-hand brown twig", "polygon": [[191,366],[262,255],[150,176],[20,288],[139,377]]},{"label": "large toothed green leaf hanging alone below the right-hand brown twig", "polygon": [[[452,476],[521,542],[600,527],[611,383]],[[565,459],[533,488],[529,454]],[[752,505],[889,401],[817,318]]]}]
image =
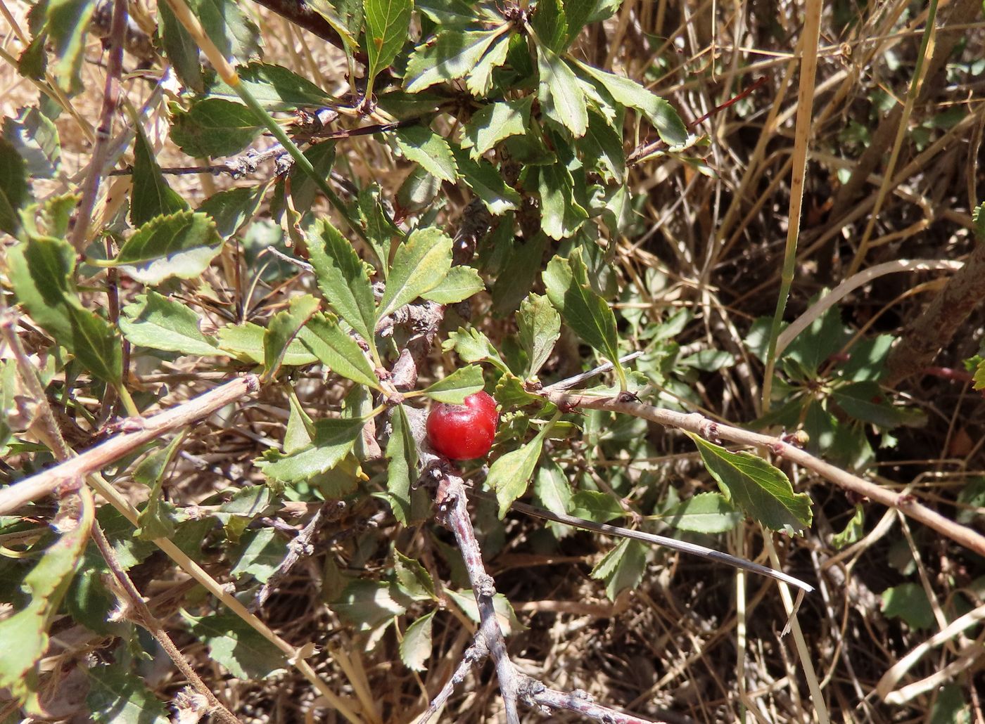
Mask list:
[{"label": "large toothed green leaf hanging alone below the right-hand brown twig", "polygon": [[725,495],[770,530],[801,532],[811,525],[811,497],[794,493],[787,476],[752,453],[730,453],[688,433],[701,461]]}]

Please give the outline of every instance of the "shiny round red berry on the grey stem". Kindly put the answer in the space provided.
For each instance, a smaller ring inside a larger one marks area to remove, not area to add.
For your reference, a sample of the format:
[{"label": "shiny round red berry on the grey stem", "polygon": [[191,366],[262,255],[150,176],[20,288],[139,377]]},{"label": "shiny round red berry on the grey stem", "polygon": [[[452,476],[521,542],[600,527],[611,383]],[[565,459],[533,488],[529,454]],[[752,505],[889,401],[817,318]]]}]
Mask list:
[{"label": "shiny round red berry on the grey stem", "polygon": [[495,400],[486,392],[465,398],[465,404],[441,402],[427,415],[427,442],[452,460],[483,457],[493,447],[499,415]]}]

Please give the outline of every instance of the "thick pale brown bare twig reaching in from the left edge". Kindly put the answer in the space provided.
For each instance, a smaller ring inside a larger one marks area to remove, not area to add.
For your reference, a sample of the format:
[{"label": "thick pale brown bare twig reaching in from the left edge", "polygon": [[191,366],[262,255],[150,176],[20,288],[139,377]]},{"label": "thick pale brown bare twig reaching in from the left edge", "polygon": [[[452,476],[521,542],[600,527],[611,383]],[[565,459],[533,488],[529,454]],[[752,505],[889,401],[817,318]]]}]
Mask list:
[{"label": "thick pale brown bare twig reaching in from the left edge", "polygon": [[[11,513],[26,503],[48,495],[61,483],[98,472],[111,462],[157,440],[165,433],[208,417],[230,402],[258,389],[259,381],[256,376],[246,375],[182,402],[154,417],[130,421],[140,429],[115,435],[77,457],[67,458],[66,453],[66,458],[62,458],[63,462],[60,464],[0,490],[0,514]],[[39,399],[44,399],[43,391]]]}]

